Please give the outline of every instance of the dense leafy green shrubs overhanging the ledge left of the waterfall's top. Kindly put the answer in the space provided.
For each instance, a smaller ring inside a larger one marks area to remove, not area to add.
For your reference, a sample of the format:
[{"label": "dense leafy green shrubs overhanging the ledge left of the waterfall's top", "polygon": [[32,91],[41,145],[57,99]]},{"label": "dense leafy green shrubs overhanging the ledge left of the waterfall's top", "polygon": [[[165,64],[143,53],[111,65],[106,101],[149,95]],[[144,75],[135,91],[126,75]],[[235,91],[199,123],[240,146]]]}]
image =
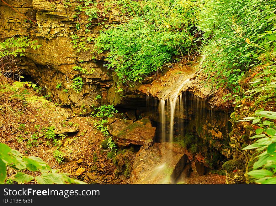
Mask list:
[{"label": "dense leafy green shrubs overhanging the ledge left of the waterfall's top", "polygon": [[100,52],[109,51],[107,67],[119,80],[141,81],[144,77],[193,50],[194,2],[118,1],[132,18],[104,30],[97,39]]}]

